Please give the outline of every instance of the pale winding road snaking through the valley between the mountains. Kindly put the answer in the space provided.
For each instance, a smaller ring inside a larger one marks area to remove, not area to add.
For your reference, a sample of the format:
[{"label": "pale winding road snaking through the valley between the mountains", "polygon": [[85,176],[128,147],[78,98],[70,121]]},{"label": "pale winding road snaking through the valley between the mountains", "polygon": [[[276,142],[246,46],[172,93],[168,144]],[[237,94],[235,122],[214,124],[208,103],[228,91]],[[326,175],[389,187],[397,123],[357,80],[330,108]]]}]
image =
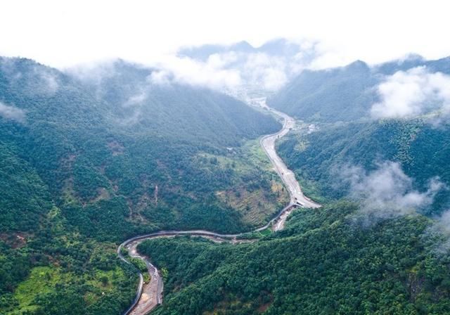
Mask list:
[{"label": "pale winding road snaking through the valley between the mountains", "polygon": [[[280,117],[283,120],[283,128],[276,132],[276,134],[269,134],[263,136],[260,140],[260,144],[266,155],[271,160],[272,165],[274,165],[274,170],[281,177],[285,187],[288,188],[288,192],[290,195],[290,203],[284,207],[276,216],[271,219],[266,225],[261,226],[254,231],[262,231],[264,229],[268,229],[270,226],[274,231],[278,231],[283,229],[285,220],[289,216],[289,214],[295,209],[295,207],[308,207],[308,208],[316,208],[321,207],[318,203],[315,203],[313,200],[307,198],[302,193],[302,188],[300,188],[300,184],[295,179],[295,174],[288,169],[283,160],[277,155],[275,150],[275,142],[277,139],[285,136],[295,126],[295,120],[293,117],[286,115],[285,113],[281,113],[278,110],[274,110],[269,108],[265,100],[259,102],[259,106],[269,110],[269,112],[273,113],[277,117]],[[248,232],[246,232],[248,233]],[[127,257],[124,256],[124,252],[128,252],[129,257],[134,257],[137,259],[142,259],[143,262],[146,263],[148,274],[150,275],[150,281],[148,283],[144,283],[143,275],[141,271],[139,273],[139,285],[138,290],[136,292],[136,297],[131,306],[124,311],[123,315],[145,315],[148,314],[152,309],[154,309],[158,304],[162,303],[162,291],[164,290],[164,284],[162,282],[162,276],[160,271],[151,264],[150,259],[143,255],[140,255],[137,252],[137,246],[142,243],[144,240],[150,240],[153,238],[162,238],[162,237],[174,237],[179,235],[191,235],[191,236],[199,236],[203,238],[209,238],[215,242],[231,242],[231,243],[243,243],[248,242],[249,240],[238,240],[239,236],[243,236],[245,233],[238,234],[220,234],[214,233],[210,231],[203,230],[193,230],[193,231],[158,231],[155,233],[150,233],[147,235],[136,236],[134,238],[129,238],[125,240],[122,244],[117,248],[117,255],[119,255],[120,259],[127,264],[131,264],[127,260]]]}]

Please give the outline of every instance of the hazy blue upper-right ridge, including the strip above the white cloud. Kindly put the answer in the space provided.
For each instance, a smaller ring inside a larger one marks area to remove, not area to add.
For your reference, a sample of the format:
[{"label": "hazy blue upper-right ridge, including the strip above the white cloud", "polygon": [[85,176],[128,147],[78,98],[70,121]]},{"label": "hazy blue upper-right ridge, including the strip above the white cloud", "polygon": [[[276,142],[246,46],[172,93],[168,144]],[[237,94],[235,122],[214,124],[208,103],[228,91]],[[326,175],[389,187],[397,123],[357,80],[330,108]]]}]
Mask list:
[{"label": "hazy blue upper-right ridge, including the strip above the white cloud", "polygon": [[450,58],[425,60],[411,56],[373,67],[358,60],[341,68],[304,70],[267,103],[305,121],[359,120],[370,116],[371,106],[379,101],[377,86],[386,76],[417,67],[449,74]]}]

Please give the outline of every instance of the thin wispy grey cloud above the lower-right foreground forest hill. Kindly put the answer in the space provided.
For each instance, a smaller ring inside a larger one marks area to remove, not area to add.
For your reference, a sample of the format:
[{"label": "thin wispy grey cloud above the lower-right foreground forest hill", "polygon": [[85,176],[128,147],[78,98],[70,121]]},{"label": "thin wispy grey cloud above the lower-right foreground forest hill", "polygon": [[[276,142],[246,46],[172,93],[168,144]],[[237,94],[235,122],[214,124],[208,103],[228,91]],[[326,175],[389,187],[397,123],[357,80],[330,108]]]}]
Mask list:
[{"label": "thin wispy grey cloud above the lower-right foreground forest hill", "polygon": [[361,203],[365,219],[390,219],[428,207],[437,192],[444,188],[432,178],[426,191],[413,188],[413,179],[404,174],[397,162],[383,162],[378,169],[366,172],[361,167],[346,167],[342,176],[350,186],[350,196]]}]

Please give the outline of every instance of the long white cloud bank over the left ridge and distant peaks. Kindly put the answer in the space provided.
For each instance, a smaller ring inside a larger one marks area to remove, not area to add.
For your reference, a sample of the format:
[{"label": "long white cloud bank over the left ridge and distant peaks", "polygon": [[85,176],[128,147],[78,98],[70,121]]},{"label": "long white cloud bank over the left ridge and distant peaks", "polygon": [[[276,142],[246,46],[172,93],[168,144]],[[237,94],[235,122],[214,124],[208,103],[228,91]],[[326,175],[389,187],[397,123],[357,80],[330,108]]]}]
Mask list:
[{"label": "long white cloud bank over the left ridge and distant peaks", "polygon": [[[138,67],[150,70],[146,86],[188,84],[214,89],[247,101],[249,95],[274,92],[286,84],[317,56],[316,43],[277,39],[255,48],[248,43],[229,46],[205,45],[182,48],[174,55],[160,56]],[[122,60],[120,60],[122,61]],[[123,62],[123,61],[122,61]],[[127,62],[124,62],[127,63]],[[131,63],[132,64],[132,63]],[[98,86],[115,76],[117,60],[88,63],[66,70],[82,82]],[[133,103],[133,100],[130,100]],[[129,104],[126,104],[129,105]]]}]

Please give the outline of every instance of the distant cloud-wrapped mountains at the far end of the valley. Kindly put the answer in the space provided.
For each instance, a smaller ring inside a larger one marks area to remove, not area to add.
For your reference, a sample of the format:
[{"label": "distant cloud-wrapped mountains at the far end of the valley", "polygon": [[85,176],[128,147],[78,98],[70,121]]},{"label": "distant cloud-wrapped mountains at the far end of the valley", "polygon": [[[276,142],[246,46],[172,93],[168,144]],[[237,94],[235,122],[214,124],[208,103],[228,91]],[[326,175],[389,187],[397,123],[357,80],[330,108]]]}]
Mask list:
[{"label": "distant cloud-wrapped mountains at the far end of the valley", "polygon": [[243,101],[273,94],[316,56],[315,46],[288,39],[273,39],[254,47],[246,41],[230,45],[181,48],[177,55],[195,67],[233,75],[235,84],[223,87]]}]

